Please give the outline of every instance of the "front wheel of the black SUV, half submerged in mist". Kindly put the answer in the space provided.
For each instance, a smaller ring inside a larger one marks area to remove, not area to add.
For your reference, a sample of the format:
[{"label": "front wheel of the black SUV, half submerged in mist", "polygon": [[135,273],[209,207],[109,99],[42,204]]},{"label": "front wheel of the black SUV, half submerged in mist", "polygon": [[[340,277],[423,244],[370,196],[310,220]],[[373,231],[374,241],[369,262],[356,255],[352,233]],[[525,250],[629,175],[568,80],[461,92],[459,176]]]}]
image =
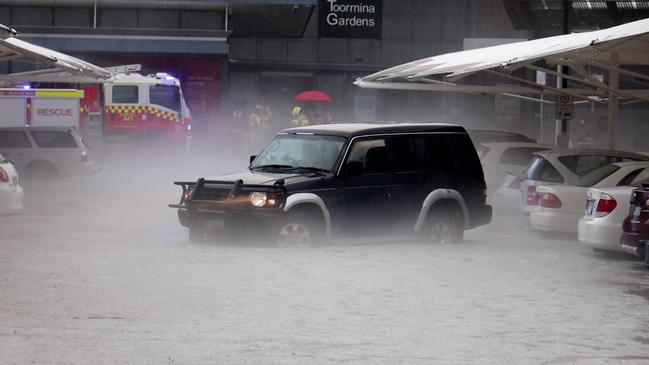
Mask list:
[{"label": "front wheel of the black SUV, half submerged in mist", "polygon": [[279,225],[277,233],[278,247],[308,248],[323,241],[323,225],[314,214],[300,211],[289,213]]}]

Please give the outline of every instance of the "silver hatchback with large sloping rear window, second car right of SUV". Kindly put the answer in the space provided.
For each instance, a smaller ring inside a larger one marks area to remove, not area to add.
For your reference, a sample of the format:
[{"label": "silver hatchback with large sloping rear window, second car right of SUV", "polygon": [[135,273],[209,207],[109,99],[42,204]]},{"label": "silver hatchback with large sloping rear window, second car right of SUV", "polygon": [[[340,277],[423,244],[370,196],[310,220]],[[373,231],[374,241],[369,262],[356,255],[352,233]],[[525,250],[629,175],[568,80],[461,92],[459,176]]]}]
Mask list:
[{"label": "silver hatchback with large sloping rear window, second car right of SUV", "polygon": [[538,207],[538,185],[574,185],[579,178],[602,166],[649,160],[649,156],[639,153],[594,149],[553,149],[535,155],[520,183],[517,212],[523,216],[529,216]]}]

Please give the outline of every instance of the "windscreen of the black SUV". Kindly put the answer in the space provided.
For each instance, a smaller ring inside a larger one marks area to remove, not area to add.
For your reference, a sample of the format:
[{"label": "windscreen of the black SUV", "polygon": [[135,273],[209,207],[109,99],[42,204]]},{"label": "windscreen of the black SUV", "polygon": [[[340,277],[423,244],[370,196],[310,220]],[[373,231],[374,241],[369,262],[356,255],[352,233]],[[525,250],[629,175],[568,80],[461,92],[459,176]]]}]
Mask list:
[{"label": "windscreen of the black SUV", "polygon": [[255,158],[250,169],[314,168],[331,171],[345,138],[322,135],[280,134]]}]

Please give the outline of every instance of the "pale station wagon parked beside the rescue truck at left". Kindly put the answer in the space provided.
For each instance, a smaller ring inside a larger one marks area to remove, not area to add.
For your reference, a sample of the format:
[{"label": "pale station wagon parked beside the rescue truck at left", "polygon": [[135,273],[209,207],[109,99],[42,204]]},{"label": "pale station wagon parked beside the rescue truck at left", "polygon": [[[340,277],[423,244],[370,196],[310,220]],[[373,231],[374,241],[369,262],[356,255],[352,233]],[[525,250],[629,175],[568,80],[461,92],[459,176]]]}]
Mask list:
[{"label": "pale station wagon parked beside the rescue truck at left", "polygon": [[42,180],[99,171],[74,128],[0,129],[0,153],[14,162],[26,180]]}]

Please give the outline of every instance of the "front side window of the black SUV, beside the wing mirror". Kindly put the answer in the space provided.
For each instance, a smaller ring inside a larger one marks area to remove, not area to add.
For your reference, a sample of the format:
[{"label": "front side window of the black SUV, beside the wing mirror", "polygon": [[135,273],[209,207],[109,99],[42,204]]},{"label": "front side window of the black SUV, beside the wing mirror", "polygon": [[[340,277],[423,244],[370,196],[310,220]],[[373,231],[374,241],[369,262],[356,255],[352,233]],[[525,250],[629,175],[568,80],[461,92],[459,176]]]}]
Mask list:
[{"label": "front side window of the black SUV, beside the wing mirror", "polygon": [[386,174],[389,171],[388,156],[385,138],[357,140],[349,151],[345,170],[353,176]]}]

